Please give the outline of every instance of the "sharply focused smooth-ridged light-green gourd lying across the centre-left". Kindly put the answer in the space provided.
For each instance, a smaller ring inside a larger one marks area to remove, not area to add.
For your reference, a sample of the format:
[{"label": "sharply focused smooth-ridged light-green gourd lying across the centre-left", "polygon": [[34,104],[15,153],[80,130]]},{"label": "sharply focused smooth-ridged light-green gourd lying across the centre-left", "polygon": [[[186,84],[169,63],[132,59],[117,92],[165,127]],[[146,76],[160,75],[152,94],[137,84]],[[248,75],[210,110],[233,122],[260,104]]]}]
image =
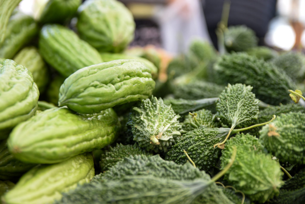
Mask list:
[{"label": "sharply focused smooth-ridged light-green gourd lying across the centre-left", "polygon": [[79,113],[148,98],[155,88],[149,67],[137,60],[113,60],[84,67],[59,89],[59,106]]}]

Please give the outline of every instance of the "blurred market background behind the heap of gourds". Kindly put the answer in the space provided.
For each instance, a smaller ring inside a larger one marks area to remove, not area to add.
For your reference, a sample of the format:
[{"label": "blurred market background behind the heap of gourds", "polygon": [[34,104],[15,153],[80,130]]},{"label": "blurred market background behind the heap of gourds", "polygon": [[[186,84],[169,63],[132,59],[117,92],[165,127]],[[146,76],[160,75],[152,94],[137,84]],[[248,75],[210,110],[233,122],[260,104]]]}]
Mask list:
[{"label": "blurred market background behind the heap of gourds", "polygon": [[[35,16],[46,0],[23,0],[20,9]],[[194,38],[213,43],[224,0],[120,0],[136,22],[130,46],[153,45],[177,55]],[[228,26],[246,25],[259,45],[278,50],[303,50],[305,46],[305,0],[231,0]]]}]

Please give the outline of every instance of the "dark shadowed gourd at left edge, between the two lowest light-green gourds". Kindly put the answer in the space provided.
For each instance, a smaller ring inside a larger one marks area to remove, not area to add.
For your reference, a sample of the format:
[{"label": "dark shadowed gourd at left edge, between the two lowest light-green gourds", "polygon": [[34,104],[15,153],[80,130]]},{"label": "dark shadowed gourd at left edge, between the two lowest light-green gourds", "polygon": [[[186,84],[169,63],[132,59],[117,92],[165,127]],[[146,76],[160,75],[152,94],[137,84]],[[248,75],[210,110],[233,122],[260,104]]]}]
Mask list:
[{"label": "dark shadowed gourd at left edge, between the two lowest light-green gourds", "polygon": [[0,180],[18,180],[35,165],[17,160],[7,149],[6,140],[0,143]]}]

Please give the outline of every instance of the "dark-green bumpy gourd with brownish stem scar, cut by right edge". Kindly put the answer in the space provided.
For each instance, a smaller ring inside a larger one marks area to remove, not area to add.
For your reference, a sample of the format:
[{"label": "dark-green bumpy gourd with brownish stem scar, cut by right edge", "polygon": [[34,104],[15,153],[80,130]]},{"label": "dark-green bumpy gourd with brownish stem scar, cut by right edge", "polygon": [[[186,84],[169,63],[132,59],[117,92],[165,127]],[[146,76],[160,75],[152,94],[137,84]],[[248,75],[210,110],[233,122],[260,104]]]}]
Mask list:
[{"label": "dark-green bumpy gourd with brownish stem scar, cut by right edge", "polygon": [[281,114],[260,131],[260,140],[281,162],[305,164],[305,114]]}]

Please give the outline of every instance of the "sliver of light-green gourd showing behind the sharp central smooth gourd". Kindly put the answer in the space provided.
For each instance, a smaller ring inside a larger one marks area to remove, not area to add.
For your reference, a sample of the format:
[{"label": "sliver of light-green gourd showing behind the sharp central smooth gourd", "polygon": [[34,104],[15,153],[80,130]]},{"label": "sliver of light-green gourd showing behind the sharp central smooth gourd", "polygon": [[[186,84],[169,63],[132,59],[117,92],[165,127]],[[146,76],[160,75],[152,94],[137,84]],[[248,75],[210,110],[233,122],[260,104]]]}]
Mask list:
[{"label": "sliver of light-green gourd showing behind the sharp central smooth gourd", "polygon": [[100,54],[103,62],[109,62],[112,60],[121,60],[121,59],[138,60],[140,62],[143,62],[147,67],[151,69],[152,78],[156,79],[158,77],[158,68],[151,61],[143,57],[132,56],[123,53],[100,53]]}]

